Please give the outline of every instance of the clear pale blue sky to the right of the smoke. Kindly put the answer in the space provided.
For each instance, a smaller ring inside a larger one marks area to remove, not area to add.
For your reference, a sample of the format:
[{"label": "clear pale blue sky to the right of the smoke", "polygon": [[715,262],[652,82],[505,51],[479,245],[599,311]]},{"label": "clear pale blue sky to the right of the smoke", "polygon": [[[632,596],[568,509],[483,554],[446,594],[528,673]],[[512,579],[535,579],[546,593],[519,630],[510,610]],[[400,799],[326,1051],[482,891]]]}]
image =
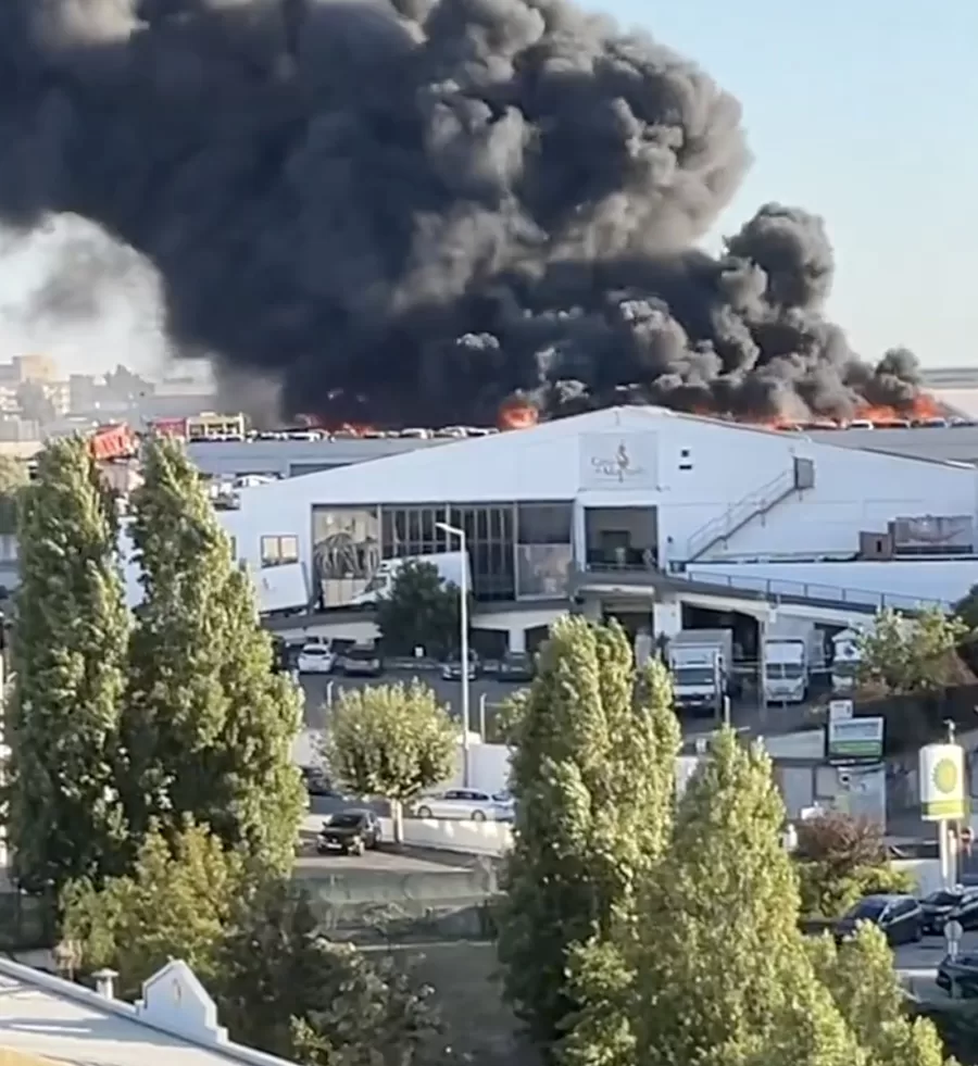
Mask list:
[{"label": "clear pale blue sky to the right of the smoke", "polygon": [[825,217],[833,317],[868,359],[978,365],[978,3],[589,0],[743,104],[755,162],[717,234],[762,203]]}]

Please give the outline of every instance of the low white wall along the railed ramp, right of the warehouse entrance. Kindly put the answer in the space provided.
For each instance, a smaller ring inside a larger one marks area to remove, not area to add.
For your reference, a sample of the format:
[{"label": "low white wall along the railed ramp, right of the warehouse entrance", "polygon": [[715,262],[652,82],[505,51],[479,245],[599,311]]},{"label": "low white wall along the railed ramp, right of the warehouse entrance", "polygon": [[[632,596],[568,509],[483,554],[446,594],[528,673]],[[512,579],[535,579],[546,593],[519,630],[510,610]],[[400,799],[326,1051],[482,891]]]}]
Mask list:
[{"label": "low white wall along the railed ramp, right of the warehouse entrance", "polygon": [[[875,603],[880,594],[919,598],[924,600],[960,600],[978,584],[978,559],[913,560],[906,562],[849,563],[716,563],[693,564],[692,577],[710,580],[722,575],[742,580],[744,588],[757,588],[770,580],[773,591],[785,595],[805,594],[801,585],[808,585],[807,594],[831,599],[836,589],[867,593],[865,601]],[[781,582],[781,584],[777,584]],[[850,597],[853,601],[858,595]],[[901,606],[901,602],[893,604]],[[907,602],[905,604],[910,606]],[[786,609],[787,610],[787,609]]]}]

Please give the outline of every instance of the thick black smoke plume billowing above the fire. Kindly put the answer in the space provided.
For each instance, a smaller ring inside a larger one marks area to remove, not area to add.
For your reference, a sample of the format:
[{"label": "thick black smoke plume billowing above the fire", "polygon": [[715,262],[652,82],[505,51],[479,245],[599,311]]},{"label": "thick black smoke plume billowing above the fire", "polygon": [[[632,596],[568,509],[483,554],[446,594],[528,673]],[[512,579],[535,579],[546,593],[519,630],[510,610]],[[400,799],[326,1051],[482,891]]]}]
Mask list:
[{"label": "thick black smoke plume billowing above the fire", "polygon": [[823,317],[818,218],[694,250],[748,164],[736,100],[557,0],[0,3],[0,218],[98,222],[292,413],[906,406],[913,356]]}]

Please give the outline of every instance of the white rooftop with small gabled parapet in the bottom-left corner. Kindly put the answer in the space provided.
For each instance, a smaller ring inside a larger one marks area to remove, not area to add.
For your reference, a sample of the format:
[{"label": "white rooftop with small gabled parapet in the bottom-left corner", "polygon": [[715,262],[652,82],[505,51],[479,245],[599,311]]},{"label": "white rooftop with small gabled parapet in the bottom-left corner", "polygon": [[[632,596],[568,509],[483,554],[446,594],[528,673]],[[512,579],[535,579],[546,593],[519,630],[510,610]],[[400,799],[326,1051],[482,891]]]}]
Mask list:
[{"label": "white rooftop with small gabled parapet in the bottom-left corner", "polygon": [[214,1004],[181,962],[143,986],[137,1004],[109,1000],[0,961],[0,1052],[78,1066],[289,1066],[230,1043]]}]

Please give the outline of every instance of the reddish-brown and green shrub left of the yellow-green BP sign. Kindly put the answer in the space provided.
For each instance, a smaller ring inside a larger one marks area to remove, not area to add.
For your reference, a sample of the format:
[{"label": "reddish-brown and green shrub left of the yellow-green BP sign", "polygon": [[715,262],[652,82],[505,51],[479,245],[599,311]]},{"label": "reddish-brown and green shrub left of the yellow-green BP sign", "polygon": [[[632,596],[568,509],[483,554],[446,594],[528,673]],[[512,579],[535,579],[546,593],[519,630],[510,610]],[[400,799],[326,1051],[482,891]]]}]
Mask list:
[{"label": "reddish-brown and green shrub left of the yellow-green BP sign", "polygon": [[806,917],[838,917],[873,892],[913,891],[911,878],[891,865],[877,823],[829,812],[797,829],[793,857]]}]

